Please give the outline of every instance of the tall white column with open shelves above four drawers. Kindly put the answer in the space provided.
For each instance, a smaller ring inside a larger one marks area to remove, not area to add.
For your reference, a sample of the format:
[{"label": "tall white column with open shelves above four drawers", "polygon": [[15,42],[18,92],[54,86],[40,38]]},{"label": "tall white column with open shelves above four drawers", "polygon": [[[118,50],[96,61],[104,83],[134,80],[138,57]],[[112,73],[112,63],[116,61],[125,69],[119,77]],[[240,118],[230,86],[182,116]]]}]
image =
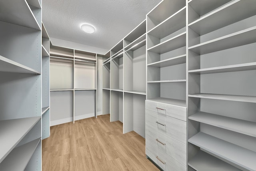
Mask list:
[{"label": "tall white column with open shelves above four drawers", "polygon": [[186,0],[163,0],[146,16],[146,155],[187,170]]}]

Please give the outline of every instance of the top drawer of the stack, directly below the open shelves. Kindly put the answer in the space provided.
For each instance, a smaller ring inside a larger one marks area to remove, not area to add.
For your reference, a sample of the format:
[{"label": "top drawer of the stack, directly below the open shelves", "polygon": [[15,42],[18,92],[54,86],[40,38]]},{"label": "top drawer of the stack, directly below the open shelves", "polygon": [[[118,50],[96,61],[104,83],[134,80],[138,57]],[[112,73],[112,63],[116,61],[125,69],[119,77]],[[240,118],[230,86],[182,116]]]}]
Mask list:
[{"label": "top drawer of the stack, directly below the open shelves", "polygon": [[145,108],[183,121],[187,120],[186,107],[146,100]]}]

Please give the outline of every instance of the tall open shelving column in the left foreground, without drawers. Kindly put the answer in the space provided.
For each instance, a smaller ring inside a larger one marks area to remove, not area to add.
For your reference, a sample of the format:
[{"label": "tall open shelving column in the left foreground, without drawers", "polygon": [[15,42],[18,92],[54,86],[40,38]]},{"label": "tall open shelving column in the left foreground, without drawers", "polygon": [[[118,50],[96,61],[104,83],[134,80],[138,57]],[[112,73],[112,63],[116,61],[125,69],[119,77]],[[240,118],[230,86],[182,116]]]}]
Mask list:
[{"label": "tall open shelving column in the left foreground, without drawers", "polygon": [[0,170],[41,170],[41,1],[1,8]]}]

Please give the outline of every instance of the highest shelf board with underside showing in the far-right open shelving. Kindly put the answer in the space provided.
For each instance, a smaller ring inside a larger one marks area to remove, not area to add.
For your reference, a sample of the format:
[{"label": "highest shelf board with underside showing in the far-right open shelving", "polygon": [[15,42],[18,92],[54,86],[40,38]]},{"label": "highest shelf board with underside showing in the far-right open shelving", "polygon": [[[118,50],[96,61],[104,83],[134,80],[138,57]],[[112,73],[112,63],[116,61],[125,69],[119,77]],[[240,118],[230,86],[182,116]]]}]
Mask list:
[{"label": "highest shelf board with underside showing in the far-right open shelving", "polygon": [[254,0],[233,0],[200,17],[188,26],[198,35],[204,35],[256,14]]}]

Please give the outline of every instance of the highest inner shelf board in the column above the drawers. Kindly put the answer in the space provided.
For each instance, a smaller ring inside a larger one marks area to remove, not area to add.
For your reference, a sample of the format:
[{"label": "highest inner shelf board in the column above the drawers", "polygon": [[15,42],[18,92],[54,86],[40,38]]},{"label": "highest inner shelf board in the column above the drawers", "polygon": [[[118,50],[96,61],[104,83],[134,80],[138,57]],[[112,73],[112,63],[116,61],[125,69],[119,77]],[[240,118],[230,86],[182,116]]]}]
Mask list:
[{"label": "highest inner shelf board in the column above the drawers", "polygon": [[162,39],[186,26],[186,6],[152,28],[148,34]]}]

